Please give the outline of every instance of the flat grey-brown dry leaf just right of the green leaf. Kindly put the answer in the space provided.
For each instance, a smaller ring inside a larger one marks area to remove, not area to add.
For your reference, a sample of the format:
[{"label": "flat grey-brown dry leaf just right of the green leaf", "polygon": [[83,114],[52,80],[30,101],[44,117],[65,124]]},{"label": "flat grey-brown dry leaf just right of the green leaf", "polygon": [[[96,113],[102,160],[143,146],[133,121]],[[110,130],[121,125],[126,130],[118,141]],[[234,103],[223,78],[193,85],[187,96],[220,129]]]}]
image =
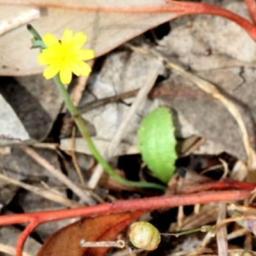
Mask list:
[{"label": "flat grey-brown dry leaf just right of the green leaf", "polygon": [[213,142],[214,148],[218,150],[209,153],[205,148],[205,154],[225,151],[239,159],[246,159],[236,120],[218,100],[180,76],[173,75],[162,85],[158,90],[158,97],[168,106],[180,111],[195,127],[196,134]]}]

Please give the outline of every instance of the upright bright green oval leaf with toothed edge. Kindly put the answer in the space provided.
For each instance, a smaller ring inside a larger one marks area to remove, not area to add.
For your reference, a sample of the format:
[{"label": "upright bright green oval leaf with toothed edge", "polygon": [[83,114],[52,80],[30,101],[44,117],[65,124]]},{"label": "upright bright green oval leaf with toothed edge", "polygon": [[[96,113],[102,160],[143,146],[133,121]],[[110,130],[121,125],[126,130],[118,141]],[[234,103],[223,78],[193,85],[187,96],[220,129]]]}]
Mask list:
[{"label": "upright bright green oval leaf with toothed edge", "polygon": [[167,183],[175,171],[177,154],[172,116],[167,108],[154,109],[138,129],[143,161],[156,177]]}]

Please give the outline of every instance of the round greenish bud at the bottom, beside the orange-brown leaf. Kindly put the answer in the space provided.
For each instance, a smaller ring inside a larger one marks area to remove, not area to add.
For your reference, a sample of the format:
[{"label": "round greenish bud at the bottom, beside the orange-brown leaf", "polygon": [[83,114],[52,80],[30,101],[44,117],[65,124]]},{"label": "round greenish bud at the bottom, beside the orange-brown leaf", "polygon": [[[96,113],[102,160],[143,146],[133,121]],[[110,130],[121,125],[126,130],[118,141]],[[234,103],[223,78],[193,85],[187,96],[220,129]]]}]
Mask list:
[{"label": "round greenish bud at the bottom, beside the orange-brown leaf", "polygon": [[161,241],[157,228],[146,221],[133,223],[129,237],[134,246],[147,251],[156,250]]}]

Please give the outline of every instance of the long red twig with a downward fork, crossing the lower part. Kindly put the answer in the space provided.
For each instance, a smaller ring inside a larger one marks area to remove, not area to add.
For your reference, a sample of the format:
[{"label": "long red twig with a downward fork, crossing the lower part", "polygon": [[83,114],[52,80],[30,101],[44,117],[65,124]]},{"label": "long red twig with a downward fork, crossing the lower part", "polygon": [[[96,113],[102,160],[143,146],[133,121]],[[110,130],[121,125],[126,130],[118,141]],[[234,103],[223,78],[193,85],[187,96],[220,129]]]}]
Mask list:
[{"label": "long red twig with a downward fork, crossing the lower part", "polygon": [[68,218],[95,216],[102,214],[127,212],[127,211],[152,211],[162,207],[177,207],[179,205],[206,204],[209,202],[221,202],[232,200],[244,200],[250,195],[250,191],[209,191],[191,195],[159,196],[133,200],[116,200],[112,204],[100,204],[77,209],[65,209],[59,211],[31,212],[1,216],[0,225],[12,225],[16,223],[28,223],[28,227],[22,232],[17,243],[17,256],[22,255],[23,245],[31,231],[38,225],[48,221],[58,221]]}]

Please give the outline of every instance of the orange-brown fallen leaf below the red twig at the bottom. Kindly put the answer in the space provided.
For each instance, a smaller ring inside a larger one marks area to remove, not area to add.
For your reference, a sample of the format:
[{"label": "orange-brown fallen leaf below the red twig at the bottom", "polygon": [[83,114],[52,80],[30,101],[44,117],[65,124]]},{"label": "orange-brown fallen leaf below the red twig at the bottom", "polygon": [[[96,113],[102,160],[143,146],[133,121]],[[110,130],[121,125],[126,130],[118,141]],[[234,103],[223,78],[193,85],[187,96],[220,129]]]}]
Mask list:
[{"label": "orange-brown fallen leaf below the red twig at the bottom", "polygon": [[80,245],[85,241],[115,241],[120,232],[145,212],[109,214],[95,218],[84,218],[61,228],[44,243],[36,256],[103,256],[108,248],[87,248]]}]

